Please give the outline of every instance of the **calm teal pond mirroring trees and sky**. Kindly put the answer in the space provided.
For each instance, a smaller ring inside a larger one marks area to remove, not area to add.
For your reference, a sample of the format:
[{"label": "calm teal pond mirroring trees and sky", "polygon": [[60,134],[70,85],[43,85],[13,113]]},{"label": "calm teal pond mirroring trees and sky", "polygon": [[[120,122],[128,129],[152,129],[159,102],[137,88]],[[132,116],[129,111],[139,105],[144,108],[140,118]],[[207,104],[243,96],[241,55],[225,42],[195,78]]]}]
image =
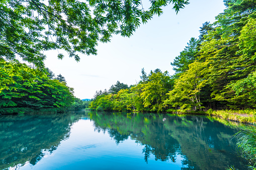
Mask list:
[{"label": "calm teal pond mirroring trees and sky", "polygon": [[[221,122],[222,121],[222,122]],[[0,117],[0,169],[246,169],[218,118],[72,111]]]}]

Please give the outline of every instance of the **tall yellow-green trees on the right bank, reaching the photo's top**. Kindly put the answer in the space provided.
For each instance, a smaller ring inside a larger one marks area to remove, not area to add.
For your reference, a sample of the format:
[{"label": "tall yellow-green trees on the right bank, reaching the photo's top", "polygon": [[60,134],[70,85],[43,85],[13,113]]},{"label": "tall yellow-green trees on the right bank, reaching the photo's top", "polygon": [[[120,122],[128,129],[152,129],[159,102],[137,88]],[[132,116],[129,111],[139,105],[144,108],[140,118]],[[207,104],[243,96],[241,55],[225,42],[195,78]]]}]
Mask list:
[{"label": "tall yellow-green trees on the right bank, reaching the photo's top", "polygon": [[199,41],[191,39],[172,63],[177,80],[166,104],[185,110],[255,108],[256,2],[224,3],[224,13],[213,25],[204,23]]}]

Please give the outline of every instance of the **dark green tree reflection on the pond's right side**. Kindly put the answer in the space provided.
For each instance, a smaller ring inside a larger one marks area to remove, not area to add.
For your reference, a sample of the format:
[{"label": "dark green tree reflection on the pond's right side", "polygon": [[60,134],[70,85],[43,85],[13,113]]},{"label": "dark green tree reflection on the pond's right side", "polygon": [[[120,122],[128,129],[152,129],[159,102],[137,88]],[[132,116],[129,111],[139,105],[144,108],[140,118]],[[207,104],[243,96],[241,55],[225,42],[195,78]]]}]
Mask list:
[{"label": "dark green tree reflection on the pond's right side", "polygon": [[205,117],[164,115],[163,122],[162,114],[90,114],[95,127],[107,130],[117,144],[130,136],[144,145],[145,162],[153,154],[155,160],[173,162],[179,155],[183,169],[225,169],[228,163],[242,169],[246,164],[234,155],[230,141],[237,130]]}]

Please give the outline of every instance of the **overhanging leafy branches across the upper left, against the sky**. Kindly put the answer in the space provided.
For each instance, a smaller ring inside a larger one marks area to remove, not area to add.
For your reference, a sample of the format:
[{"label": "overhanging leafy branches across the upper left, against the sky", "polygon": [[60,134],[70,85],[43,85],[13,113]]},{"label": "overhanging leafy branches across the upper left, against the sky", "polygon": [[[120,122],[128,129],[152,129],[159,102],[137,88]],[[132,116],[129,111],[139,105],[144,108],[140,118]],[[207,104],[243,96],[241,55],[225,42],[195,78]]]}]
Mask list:
[{"label": "overhanging leafy branches across the upper left, against the sky", "polygon": [[62,49],[79,61],[77,53],[96,55],[98,42],[110,42],[113,34],[130,37],[141,23],[160,16],[162,7],[172,4],[178,13],[189,4],[149,2],[150,7],[143,9],[141,0],[0,0],[0,58],[21,57],[43,68],[43,51]]}]

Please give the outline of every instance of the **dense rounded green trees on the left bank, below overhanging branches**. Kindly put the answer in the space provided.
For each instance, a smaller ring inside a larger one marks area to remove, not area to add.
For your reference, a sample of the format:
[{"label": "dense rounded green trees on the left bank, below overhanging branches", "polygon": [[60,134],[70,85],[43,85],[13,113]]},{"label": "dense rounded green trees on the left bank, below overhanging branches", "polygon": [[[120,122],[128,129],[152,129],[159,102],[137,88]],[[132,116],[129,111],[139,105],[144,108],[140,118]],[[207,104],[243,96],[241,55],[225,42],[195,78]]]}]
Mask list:
[{"label": "dense rounded green trees on the left bank, below overhanging branches", "polygon": [[0,113],[23,114],[26,108],[64,111],[75,99],[73,88],[67,86],[65,78],[61,74],[55,77],[48,68],[42,72],[26,64],[4,60],[0,67],[1,83],[4,82],[1,84]]}]

